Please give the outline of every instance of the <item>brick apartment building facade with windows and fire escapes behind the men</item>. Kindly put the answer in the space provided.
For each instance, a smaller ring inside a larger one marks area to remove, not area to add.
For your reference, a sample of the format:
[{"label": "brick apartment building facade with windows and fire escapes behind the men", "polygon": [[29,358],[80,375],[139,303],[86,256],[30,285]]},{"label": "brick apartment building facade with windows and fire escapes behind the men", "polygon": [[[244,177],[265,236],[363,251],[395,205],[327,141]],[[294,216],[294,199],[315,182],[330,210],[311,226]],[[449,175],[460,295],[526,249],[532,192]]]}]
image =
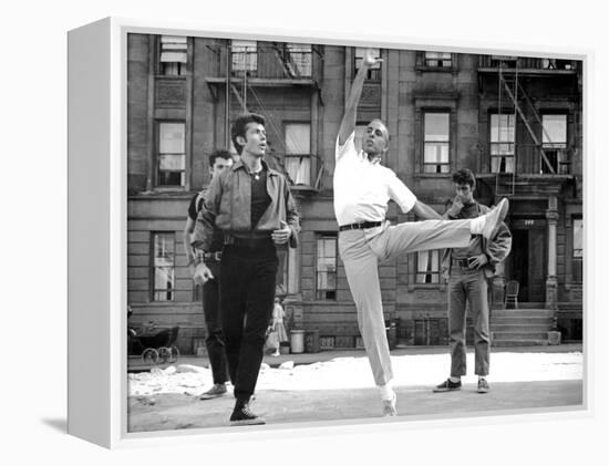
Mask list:
[{"label": "brick apartment building facade with windows and fire escapes behind the men", "polygon": [[[230,147],[230,121],[248,108],[267,118],[267,159],[290,177],[302,214],[300,247],[280,251],[277,289],[289,323],[318,330],[323,348],[360,344],[332,207],[336,137],[360,52],[128,35],[132,327],[180,325],[183,352],[204,335],[200,290],[186,267],[182,231],[190,197],[209,180],[207,156]],[[544,310],[564,340],[581,340],[581,62],[385,49],[379,54],[384,61],[369,71],[358,131],[373,117],[386,123],[385,165],[437,211],[454,197],[451,174],[463,167],[476,173],[483,204],[508,196],[514,246],[493,282],[493,309],[503,308],[506,283],[517,280],[524,318]],[[388,216],[414,220],[395,205]],[[447,342],[438,256],[409,255],[380,267],[385,315],[402,344]]]}]

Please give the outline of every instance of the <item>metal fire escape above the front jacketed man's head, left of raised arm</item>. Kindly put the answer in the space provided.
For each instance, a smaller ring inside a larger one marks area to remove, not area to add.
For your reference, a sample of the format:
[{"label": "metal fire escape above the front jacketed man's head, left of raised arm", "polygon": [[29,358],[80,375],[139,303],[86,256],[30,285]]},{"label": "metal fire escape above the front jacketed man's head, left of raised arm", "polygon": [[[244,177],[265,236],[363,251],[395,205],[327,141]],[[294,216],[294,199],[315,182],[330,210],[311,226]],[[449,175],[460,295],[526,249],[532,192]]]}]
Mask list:
[{"label": "metal fire escape above the front jacketed man's head, left of raised arm", "polygon": [[[219,102],[221,86],[225,91],[225,127],[226,144],[230,145],[230,118],[237,111],[234,102],[238,104],[238,113],[255,112],[266,120],[266,128],[269,136],[269,147],[265,159],[269,165],[283,173],[292,185],[292,190],[303,194],[319,191],[324,172],[324,162],[316,153],[316,126],[318,106],[323,105],[321,92],[316,76],[313,56],[317,54],[323,60],[323,54],[318,45],[298,45],[279,42],[251,42],[224,41],[223,46],[215,48],[218,64],[224,62],[226,66],[216,76],[207,76],[207,85],[216,102]],[[261,59],[264,56],[264,59]],[[272,56],[272,59],[271,59]],[[259,63],[266,65],[260,69]],[[218,66],[220,70],[221,66]],[[289,95],[289,89],[310,89],[311,92],[311,146],[309,149],[299,151],[302,144],[293,138],[289,142],[289,135],[283,134],[282,122],[278,121],[277,112],[271,104],[265,101],[264,89],[275,87]],[[292,153],[288,154],[288,146]],[[293,154],[296,152],[300,154]],[[278,147],[278,149],[276,149]],[[285,151],[281,151],[283,148]],[[314,175],[314,176],[313,176]]]}]

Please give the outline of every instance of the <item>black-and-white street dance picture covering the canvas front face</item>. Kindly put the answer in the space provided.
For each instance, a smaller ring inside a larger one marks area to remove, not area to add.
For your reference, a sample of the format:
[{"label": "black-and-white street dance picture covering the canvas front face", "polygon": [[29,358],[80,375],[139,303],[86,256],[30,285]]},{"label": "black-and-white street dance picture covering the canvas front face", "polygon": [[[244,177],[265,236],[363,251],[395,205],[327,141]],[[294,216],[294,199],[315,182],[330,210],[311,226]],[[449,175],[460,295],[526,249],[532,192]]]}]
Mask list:
[{"label": "black-and-white street dance picture covering the canvas front face", "polygon": [[127,433],[584,408],[584,56],[125,50]]}]

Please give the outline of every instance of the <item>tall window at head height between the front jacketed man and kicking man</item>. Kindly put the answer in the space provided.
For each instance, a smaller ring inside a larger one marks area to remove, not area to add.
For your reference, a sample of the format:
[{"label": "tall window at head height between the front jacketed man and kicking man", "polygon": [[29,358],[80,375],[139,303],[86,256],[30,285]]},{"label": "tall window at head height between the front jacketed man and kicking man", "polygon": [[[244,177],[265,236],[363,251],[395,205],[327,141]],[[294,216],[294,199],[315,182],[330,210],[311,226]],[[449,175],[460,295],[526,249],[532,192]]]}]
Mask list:
[{"label": "tall window at head height between the front jacketed man and kicking man", "polygon": [[295,185],[311,184],[311,124],[286,124],[286,169]]}]

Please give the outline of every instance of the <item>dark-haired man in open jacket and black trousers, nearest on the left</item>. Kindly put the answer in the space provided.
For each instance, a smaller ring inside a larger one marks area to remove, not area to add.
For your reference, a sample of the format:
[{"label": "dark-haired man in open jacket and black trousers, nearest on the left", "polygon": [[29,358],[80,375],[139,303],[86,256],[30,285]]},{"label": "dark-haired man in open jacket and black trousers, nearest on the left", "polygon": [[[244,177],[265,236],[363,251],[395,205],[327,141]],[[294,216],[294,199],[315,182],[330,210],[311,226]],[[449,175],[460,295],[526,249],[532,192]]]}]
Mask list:
[{"label": "dark-haired man in open jacket and black trousers, nearest on the left", "polygon": [[236,397],[230,424],[265,424],[252,413],[250,401],[272,315],[276,245],[297,247],[299,216],[286,178],[262,160],[267,149],[265,118],[254,113],[241,115],[230,133],[241,157],[211,180],[205,196],[193,236],[197,251],[195,280],[213,278],[205,253],[218,228],[224,234],[221,328]]}]

